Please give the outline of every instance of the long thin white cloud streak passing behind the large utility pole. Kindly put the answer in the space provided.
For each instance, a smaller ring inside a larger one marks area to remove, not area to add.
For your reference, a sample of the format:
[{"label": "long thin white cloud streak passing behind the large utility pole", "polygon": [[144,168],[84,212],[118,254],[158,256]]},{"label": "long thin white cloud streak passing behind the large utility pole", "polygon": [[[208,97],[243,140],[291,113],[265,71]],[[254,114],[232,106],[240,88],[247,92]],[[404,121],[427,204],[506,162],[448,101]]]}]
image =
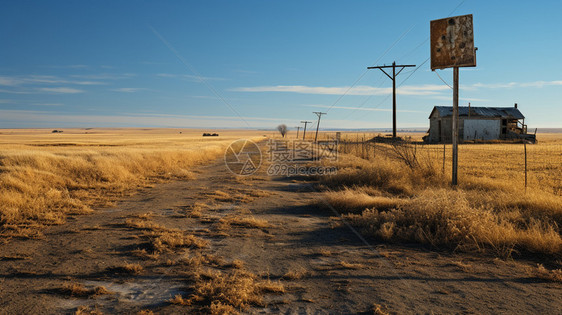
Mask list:
[{"label": "long thin white cloud streak passing behind the large utility pole", "polygon": [[[396,90],[401,95],[435,95],[440,91],[448,89],[447,86],[425,84],[425,85],[405,85]],[[358,85],[350,88],[349,86],[323,87],[305,85],[275,85],[275,86],[255,86],[238,87],[230,91],[235,92],[290,92],[301,94],[325,94],[325,95],[388,95],[392,93],[392,88],[377,88],[367,85]]]}]

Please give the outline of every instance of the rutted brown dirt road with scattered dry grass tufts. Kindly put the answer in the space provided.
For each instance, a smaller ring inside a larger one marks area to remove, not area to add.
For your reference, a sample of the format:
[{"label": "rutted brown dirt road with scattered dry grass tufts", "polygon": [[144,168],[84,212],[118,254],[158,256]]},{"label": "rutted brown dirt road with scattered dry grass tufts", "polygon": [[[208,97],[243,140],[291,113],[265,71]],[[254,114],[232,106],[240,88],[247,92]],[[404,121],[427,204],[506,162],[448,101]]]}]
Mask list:
[{"label": "rutted brown dirt road with scattered dry grass tufts", "polygon": [[[159,184],[110,209],[70,217],[44,238],[1,245],[0,314],[86,307],[190,313],[196,306],[168,301],[190,295],[191,265],[181,259],[196,251],[214,257],[211,269],[243,264],[261,279],[281,282],[284,293],[264,293],[263,306],[248,313],[361,313],[377,306],[399,314],[562,313],[562,286],[527,272],[529,263],[362,239],[319,206],[322,194],[306,179],[263,172],[237,179],[222,160],[195,172],[193,180]],[[208,245],[151,256],[151,227],[139,222]],[[103,286],[110,294],[80,294],[72,284],[90,291]]]}]

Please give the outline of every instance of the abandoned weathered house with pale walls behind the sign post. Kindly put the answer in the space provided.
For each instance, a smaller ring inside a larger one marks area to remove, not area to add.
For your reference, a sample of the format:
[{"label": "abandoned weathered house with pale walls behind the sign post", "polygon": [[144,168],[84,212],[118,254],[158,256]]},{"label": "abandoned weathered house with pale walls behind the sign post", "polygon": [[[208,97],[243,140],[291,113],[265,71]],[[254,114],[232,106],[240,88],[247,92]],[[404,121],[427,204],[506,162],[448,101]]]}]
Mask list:
[{"label": "abandoned weathered house with pale walls behind the sign post", "polygon": [[[429,143],[452,142],[452,106],[435,106],[429,115],[429,131],[424,140]],[[459,141],[525,139],[534,142],[535,135],[527,134],[525,116],[514,107],[459,106]]]}]

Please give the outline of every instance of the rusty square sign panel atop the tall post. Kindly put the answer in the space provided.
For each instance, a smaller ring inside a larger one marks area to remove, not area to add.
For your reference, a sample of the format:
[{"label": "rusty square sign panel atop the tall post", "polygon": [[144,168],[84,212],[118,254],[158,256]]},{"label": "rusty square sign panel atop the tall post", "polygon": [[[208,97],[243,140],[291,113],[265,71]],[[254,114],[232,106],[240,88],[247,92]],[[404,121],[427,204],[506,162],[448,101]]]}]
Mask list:
[{"label": "rusty square sign panel atop the tall post", "polygon": [[476,67],[472,14],[430,22],[431,70]]}]

